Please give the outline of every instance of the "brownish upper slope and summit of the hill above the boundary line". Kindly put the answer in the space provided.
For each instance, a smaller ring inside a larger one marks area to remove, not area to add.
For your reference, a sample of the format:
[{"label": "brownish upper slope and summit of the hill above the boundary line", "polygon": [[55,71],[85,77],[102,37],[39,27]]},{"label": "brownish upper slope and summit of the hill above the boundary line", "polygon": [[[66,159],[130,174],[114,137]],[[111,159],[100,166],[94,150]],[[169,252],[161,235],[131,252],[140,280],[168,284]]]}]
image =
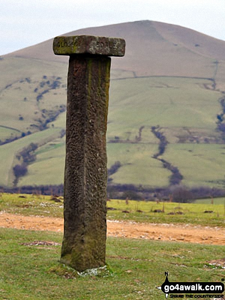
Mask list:
[{"label": "brownish upper slope and summit of the hill above the boundary line", "polygon": [[[223,86],[225,41],[177,25],[142,20],[85,28],[64,35],[116,36],[126,39],[126,56],[113,59],[112,67],[133,76],[183,76],[214,78]],[[7,56],[67,62],[55,56],[53,39]],[[215,74],[216,73],[216,74]]]}]

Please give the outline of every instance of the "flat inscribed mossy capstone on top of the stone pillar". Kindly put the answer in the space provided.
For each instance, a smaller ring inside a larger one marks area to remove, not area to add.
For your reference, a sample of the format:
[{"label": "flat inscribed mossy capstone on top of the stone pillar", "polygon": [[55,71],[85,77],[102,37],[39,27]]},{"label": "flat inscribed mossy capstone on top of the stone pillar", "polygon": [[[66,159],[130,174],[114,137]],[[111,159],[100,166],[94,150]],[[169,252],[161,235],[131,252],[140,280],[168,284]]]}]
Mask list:
[{"label": "flat inscribed mossy capstone on top of the stone pillar", "polygon": [[125,41],[117,37],[77,35],[57,36],[53,42],[53,51],[57,55],[93,54],[123,56]]}]

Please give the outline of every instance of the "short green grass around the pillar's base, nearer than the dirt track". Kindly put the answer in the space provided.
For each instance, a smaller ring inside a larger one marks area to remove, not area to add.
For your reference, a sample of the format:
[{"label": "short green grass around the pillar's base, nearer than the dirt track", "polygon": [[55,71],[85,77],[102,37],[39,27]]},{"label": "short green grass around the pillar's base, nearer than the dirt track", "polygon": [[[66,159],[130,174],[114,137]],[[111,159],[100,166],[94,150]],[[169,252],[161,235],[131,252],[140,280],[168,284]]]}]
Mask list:
[{"label": "short green grass around the pillar's base, nearer than the dirt track", "polygon": [[[108,238],[111,272],[82,277],[59,263],[62,234],[0,228],[0,240],[0,297],[6,300],[160,300],[165,271],[170,281],[224,277],[223,269],[209,264],[224,257],[223,246]],[[29,245],[34,241],[57,244]]]}]

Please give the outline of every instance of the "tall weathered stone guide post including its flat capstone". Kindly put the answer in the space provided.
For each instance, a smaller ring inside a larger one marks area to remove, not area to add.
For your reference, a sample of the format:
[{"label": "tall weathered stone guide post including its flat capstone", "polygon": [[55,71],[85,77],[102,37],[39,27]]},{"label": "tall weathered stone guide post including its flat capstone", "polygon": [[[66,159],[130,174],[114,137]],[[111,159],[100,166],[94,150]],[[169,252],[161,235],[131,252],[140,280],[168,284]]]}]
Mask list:
[{"label": "tall weathered stone guide post including its flat capstone", "polygon": [[61,262],[84,271],[105,265],[109,56],[123,56],[125,41],[59,36],[53,50],[70,56]]}]

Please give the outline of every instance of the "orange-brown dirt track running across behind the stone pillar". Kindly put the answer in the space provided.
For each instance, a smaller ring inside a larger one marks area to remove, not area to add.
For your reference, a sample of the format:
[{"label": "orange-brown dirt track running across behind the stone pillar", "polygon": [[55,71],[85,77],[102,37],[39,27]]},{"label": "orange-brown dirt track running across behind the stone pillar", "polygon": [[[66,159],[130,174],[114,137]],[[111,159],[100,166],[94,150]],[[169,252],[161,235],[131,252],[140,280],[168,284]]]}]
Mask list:
[{"label": "orange-brown dirt track running across behind the stone pillar", "polygon": [[[63,232],[63,219],[0,213],[0,227]],[[113,237],[225,245],[225,229],[219,227],[110,220],[107,227]]]}]

